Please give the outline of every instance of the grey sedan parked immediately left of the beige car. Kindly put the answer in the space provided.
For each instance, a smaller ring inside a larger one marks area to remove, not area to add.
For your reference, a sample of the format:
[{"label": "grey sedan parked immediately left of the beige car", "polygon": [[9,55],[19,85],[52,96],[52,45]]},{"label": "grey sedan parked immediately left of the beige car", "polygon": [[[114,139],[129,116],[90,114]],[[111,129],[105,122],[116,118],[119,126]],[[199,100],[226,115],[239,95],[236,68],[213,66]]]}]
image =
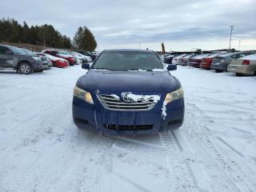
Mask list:
[{"label": "grey sedan parked immediately left of the beige car", "polygon": [[243,58],[249,54],[253,54],[250,52],[236,52],[229,54],[220,54],[214,58],[213,62],[210,65],[210,69],[216,70],[216,72],[227,71],[227,66],[230,64],[233,58]]}]

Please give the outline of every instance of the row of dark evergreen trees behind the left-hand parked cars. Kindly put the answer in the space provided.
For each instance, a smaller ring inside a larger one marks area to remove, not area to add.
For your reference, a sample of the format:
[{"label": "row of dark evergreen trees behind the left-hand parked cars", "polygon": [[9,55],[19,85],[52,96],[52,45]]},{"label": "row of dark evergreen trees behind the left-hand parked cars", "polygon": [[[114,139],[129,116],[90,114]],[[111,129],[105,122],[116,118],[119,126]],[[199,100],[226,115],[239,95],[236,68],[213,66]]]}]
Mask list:
[{"label": "row of dark evergreen trees behind the left-hand parked cars", "polygon": [[69,37],[55,30],[52,25],[28,26],[26,22],[19,24],[14,18],[2,18],[0,20],[0,42],[28,43],[38,46],[90,51],[97,47],[94,35],[86,26],[78,28],[72,42]]}]

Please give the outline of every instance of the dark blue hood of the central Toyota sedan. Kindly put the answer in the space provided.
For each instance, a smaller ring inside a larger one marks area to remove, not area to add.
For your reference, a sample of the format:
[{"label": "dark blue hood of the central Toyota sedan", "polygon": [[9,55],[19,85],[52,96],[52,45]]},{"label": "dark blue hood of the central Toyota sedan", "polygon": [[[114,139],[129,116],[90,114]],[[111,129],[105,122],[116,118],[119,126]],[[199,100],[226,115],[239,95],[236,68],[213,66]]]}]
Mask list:
[{"label": "dark blue hood of the central Toyota sedan", "polygon": [[168,71],[89,70],[78,80],[83,90],[170,92],[180,87],[178,79]]}]

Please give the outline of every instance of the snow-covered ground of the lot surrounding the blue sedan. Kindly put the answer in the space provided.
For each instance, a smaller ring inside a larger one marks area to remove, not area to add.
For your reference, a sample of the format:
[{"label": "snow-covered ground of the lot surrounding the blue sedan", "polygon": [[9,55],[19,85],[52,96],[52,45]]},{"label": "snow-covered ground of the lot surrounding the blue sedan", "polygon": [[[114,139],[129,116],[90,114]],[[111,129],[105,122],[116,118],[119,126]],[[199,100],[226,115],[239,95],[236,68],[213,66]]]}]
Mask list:
[{"label": "snow-covered ground of the lot surrounding the blue sedan", "polygon": [[178,66],[185,122],[156,135],[78,130],[81,66],[0,71],[0,191],[256,191],[256,78]]}]

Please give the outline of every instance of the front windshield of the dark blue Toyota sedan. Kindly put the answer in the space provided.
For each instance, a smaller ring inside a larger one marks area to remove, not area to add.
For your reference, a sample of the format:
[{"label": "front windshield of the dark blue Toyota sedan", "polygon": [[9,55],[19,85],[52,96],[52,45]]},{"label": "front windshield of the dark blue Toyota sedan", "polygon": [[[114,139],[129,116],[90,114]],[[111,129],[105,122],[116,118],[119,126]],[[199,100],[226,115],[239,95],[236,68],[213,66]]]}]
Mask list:
[{"label": "front windshield of the dark blue Toyota sedan", "polygon": [[160,58],[154,52],[106,51],[94,62],[97,70],[155,70],[163,69]]}]

